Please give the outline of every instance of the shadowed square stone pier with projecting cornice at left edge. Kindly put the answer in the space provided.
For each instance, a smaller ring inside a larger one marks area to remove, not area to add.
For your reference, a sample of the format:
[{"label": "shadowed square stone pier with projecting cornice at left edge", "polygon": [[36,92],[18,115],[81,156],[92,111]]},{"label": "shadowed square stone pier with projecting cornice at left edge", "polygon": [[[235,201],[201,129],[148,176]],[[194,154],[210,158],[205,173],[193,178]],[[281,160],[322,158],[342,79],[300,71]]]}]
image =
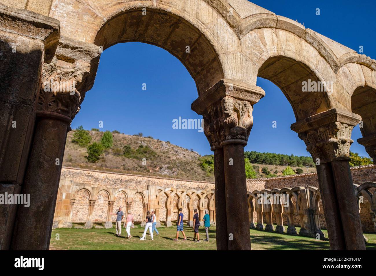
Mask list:
[{"label": "shadowed square stone pier with projecting cornice at left edge", "polygon": [[[42,64],[56,50],[59,26],[54,18],[0,4],[0,194],[21,193]],[[0,250],[11,247],[17,208],[0,204]]]}]

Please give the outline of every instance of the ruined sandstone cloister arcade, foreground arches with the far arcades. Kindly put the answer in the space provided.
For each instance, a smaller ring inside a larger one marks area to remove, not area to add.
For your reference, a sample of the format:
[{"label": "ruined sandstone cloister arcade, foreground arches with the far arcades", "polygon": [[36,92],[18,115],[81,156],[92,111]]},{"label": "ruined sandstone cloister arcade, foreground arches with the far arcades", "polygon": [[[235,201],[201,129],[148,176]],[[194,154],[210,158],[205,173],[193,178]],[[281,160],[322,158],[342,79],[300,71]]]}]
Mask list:
[{"label": "ruined sandstone cloister arcade, foreground arches with the far arcades", "polygon": [[[296,116],[291,129],[319,161],[318,189],[264,192],[290,194],[298,213],[311,208],[310,219],[299,213],[300,224],[309,234],[319,235],[320,198],[331,249],[365,249],[349,151],[352,129],[361,122],[359,143],[376,162],[375,60],[246,0],[0,0],[0,47],[9,53],[0,64],[0,192],[30,194],[31,199],[29,208],[0,206],[1,249],[48,249],[61,196],[56,158],[63,160],[67,131],[84,98],[90,97],[100,53],[130,41],[169,51],[196,81],[198,98],[192,109],[203,116],[204,133],[214,151],[215,189],[83,187],[72,191],[65,216],[74,216],[74,195],[80,190],[89,201],[86,222],[91,222],[99,193],[100,201],[108,201],[108,211],[101,215],[106,222],[114,206],[109,202],[120,196],[125,208],[132,208],[135,196],[142,198],[143,212],[161,205],[172,208],[176,199],[183,206],[188,197],[189,217],[196,200],[200,212],[215,212],[218,250],[251,249],[252,208],[256,224],[264,216],[268,229],[273,228],[274,210],[280,231],[281,214],[295,210],[257,205],[257,191],[247,195],[243,147],[252,135],[253,108],[268,93],[256,86],[257,77],[262,77],[282,90]],[[50,81],[74,82],[75,89],[49,91],[45,88]],[[304,82],[325,85],[308,92],[302,90]],[[20,127],[12,128],[13,121]],[[374,194],[364,189],[358,192],[374,201]],[[171,208],[165,208],[168,223]],[[235,238],[229,240],[229,234]]]}]

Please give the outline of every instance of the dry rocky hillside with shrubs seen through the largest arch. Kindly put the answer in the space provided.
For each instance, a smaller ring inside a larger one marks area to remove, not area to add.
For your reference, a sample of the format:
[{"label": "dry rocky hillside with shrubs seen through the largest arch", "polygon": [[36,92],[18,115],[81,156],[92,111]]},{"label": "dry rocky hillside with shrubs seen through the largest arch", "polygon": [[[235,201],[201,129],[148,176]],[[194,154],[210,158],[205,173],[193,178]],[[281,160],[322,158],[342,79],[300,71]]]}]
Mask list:
[{"label": "dry rocky hillside with shrubs seen through the largest arch", "polygon": [[[214,182],[214,175],[205,172],[200,166],[201,156],[197,152],[151,137],[112,133],[113,146],[105,150],[97,163],[89,163],[85,158],[86,147],[72,142],[74,132],[75,130],[68,133],[63,166]],[[91,142],[100,142],[103,132],[89,131],[89,134]],[[133,151],[140,146],[148,151],[143,155],[127,158],[123,154],[126,145]],[[143,158],[146,158],[146,165],[145,162],[143,164]]]}]

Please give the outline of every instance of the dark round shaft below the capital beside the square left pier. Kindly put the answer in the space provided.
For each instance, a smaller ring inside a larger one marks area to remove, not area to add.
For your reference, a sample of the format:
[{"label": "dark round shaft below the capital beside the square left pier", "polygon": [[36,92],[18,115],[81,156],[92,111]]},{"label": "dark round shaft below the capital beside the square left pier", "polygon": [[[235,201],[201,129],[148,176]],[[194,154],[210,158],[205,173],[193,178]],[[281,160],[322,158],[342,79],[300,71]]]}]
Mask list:
[{"label": "dark round shaft below the capital beside the square left pier", "polygon": [[[23,194],[30,195],[30,206],[20,205],[15,221],[11,249],[47,250],[59,188],[67,127],[71,120],[54,113],[38,117],[27,165]],[[56,164],[59,158],[59,165]]]}]

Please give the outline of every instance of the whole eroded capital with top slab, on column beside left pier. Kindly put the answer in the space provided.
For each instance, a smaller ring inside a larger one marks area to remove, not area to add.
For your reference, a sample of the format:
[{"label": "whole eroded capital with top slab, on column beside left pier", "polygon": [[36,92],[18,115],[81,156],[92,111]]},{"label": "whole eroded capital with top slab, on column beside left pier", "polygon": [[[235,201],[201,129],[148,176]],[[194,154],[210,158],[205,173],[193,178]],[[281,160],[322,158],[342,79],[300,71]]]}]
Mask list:
[{"label": "whole eroded capital with top slab, on column beside left pier", "polygon": [[42,67],[37,114],[55,113],[72,120],[80,110],[86,91],[94,84],[99,57],[96,45],[62,36],[52,61]]}]

